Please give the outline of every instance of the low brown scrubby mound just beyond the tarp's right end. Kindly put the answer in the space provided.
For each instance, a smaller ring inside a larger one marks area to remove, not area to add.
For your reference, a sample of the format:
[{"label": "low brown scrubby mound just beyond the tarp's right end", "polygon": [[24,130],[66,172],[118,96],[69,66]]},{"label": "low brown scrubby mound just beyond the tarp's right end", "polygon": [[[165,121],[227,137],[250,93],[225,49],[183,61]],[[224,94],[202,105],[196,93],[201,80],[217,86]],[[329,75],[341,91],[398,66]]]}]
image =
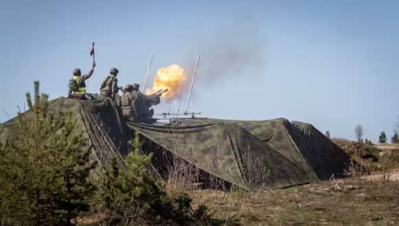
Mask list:
[{"label": "low brown scrubby mound just beyond the tarp's right end", "polygon": [[376,162],[380,157],[379,153],[382,151],[372,144],[351,142],[347,139],[332,139],[332,142],[354,159],[361,158]]}]

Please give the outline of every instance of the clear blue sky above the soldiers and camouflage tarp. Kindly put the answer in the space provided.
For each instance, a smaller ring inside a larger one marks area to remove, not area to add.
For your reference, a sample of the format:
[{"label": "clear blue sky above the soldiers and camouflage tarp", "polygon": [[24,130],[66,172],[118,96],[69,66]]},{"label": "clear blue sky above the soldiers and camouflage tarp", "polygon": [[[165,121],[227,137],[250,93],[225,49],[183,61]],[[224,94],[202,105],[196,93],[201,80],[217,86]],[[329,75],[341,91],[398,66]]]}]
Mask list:
[{"label": "clear blue sky above the soldiers and camouflage tarp", "polygon": [[[0,122],[23,109],[40,80],[67,95],[71,72],[111,67],[119,84],[201,60],[190,111],[202,117],[313,124],[332,137],[377,141],[399,116],[399,1],[19,1],[0,0]],[[187,92],[181,97],[185,106]],[[156,112],[177,111],[179,101]]]}]

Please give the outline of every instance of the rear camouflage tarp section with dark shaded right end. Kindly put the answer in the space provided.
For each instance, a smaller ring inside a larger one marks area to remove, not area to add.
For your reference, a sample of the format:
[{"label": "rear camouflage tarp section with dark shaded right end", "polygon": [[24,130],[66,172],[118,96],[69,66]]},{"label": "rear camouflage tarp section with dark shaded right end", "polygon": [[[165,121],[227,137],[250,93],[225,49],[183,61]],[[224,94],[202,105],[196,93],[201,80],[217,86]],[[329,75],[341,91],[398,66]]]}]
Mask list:
[{"label": "rear camouflage tarp section with dark shaded right end", "polygon": [[345,174],[350,156],[323,135],[312,124],[289,122],[284,118],[262,121],[219,119],[179,120],[179,124],[194,125],[224,122],[235,124],[255,135],[284,157],[304,168],[312,168],[319,179]]}]

